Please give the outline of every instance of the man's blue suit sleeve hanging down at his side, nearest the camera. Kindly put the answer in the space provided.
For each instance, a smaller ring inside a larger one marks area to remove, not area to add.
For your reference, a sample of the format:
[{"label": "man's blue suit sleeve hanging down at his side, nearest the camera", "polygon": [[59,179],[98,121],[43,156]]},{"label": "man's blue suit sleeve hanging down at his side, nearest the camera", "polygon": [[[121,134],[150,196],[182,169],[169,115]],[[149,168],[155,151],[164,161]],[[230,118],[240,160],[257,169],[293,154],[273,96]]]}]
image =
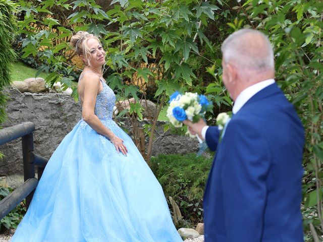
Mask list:
[{"label": "man's blue suit sleeve hanging down at his side, nearest the camera", "polygon": [[228,241],[260,242],[271,152],[250,122],[232,120],[221,146],[223,204]]}]

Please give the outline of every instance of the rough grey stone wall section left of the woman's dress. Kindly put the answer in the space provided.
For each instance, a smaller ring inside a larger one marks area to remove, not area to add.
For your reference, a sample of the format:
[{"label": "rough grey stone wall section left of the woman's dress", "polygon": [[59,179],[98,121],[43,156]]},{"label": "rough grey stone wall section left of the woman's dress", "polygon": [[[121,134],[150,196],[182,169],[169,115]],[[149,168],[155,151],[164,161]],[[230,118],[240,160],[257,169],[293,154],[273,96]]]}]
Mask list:
[{"label": "rough grey stone wall section left of the woman's dress", "polygon": [[[80,102],[76,103],[64,93],[34,95],[11,87],[6,90],[6,95],[10,96],[6,107],[8,118],[2,128],[23,122],[34,123],[34,151],[46,159],[82,118]],[[1,152],[5,157],[0,160],[0,176],[22,172],[21,138],[2,145]],[[9,177],[7,182],[9,184]]]}]

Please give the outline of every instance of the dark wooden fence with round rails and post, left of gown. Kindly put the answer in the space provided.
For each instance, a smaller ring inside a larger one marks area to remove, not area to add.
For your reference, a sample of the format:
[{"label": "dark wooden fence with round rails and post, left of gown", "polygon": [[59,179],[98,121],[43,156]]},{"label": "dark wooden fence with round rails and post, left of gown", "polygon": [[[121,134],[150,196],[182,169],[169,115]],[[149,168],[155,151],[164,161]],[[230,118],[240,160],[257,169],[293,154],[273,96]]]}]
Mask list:
[{"label": "dark wooden fence with round rails and post, left of gown", "polygon": [[[0,130],[0,145],[21,137],[22,157],[24,165],[25,182],[15,189],[10,195],[0,201],[0,220],[4,218],[12,209],[26,198],[28,209],[38,180],[47,164],[47,159],[35,154],[33,132],[35,125],[31,122],[22,123],[13,127]],[[37,178],[35,177],[35,166],[37,167]]]}]

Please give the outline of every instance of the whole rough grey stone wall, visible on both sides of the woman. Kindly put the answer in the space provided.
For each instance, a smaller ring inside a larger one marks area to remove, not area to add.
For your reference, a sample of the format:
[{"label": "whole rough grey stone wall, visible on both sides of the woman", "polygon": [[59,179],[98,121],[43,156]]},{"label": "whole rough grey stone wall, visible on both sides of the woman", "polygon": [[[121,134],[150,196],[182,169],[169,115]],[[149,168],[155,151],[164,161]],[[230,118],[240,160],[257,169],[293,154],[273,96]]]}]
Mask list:
[{"label": "whole rough grey stone wall, visible on both sides of the woman", "polygon": [[[49,159],[63,138],[81,119],[80,102],[75,103],[71,96],[63,93],[20,93],[15,88],[10,88],[7,92],[11,100],[7,105],[8,119],[2,124],[2,128],[33,122],[36,127],[34,150]],[[163,124],[164,122],[157,124],[152,155],[197,152],[197,140],[170,132],[164,134]],[[131,130],[129,126],[125,128]],[[21,139],[0,146],[0,151],[5,154],[5,158],[0,160],[0,176],[22,171]]]}]

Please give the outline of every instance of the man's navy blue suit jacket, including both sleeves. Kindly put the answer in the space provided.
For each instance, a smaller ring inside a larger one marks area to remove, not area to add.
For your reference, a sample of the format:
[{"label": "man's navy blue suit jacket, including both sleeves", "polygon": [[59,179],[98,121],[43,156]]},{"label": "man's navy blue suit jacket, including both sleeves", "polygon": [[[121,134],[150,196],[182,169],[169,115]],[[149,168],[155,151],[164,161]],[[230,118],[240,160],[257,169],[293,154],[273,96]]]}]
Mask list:
[{"label": "man's navy blue suit jacket, including both sleeves", "polygon": [[218,127],[205,140],[216,151],[203,201],[205,241],[303,241],[304,130],[277,84],[232,116],[219,145]]}]

